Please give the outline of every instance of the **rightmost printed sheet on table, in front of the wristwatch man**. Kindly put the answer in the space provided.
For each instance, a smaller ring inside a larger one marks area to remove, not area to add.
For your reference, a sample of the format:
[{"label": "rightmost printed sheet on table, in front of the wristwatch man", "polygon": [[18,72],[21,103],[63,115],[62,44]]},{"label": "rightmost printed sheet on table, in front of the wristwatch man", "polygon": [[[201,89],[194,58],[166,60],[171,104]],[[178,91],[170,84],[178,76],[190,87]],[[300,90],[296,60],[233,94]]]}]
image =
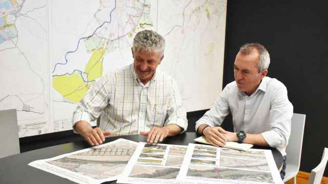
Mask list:
[{"label": "rightmost printed sheet on table, in front of the wristwatch man", "polygon": [[199,144],[189,144],[177,181],[283,183],[271,150],[238,151]]}]

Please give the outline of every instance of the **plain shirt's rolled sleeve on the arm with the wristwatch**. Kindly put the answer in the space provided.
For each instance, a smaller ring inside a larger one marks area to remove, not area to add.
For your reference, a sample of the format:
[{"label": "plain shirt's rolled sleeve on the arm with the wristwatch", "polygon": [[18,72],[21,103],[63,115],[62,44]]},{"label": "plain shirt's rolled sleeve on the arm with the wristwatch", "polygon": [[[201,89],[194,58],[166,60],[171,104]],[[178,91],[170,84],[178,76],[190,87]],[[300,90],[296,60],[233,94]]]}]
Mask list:
[{"label": "plain shirt's rolled sleeve on the arm with the wristwatch", "polygon": [[261,134],[269,146],[283,150],[291,133],[293,105],[288,100],[287,89],[284,86],[274,93],[274,97],[270,110],[270,131]]}]

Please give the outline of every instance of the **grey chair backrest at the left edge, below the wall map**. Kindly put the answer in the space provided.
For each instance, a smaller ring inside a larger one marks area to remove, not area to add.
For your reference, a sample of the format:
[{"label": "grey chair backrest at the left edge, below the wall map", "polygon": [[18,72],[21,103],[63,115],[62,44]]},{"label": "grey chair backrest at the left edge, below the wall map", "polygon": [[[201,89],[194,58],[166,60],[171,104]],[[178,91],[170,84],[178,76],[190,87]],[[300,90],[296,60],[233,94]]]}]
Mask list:
[{"label": "grey chair backrest at the left edge, below the wall map", "polygon": [[0,158],[20,152],[16,109],[0,110],[0,148]]}]

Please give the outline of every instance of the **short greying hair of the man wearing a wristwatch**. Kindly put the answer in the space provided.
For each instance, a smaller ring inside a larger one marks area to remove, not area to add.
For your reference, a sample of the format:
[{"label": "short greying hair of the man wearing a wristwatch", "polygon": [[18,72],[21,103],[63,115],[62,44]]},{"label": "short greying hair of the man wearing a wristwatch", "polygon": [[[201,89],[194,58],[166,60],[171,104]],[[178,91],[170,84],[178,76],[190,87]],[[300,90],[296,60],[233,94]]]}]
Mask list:
[{"label": "short greying hair of the man wearing a wristwatch", "polygon": [[258,72],[263,70],[268,70],[270,65],[270,55],[267,49],[264,48],[260,43],[246,43],[242,45],[239,49],[239,52],[244,55],[251,54],[256,50],[259,54],[260,60],[257,63]]}]

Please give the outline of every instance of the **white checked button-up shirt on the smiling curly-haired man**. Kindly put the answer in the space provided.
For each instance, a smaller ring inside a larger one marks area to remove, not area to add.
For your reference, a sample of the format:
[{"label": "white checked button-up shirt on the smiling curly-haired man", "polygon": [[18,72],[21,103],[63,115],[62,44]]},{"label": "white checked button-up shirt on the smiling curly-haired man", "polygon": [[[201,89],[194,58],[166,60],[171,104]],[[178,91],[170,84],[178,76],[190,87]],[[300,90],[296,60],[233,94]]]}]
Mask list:
[{"label": "white checked button-up shirt on the smiling curly-haired man", "polygon": [[187,113],[173,78],[157,70],[144,85],[133,64],[92,85],[73,113],[73,127],[81,120],[95,121],[100,114],[100,129],[111,131],[112,135],[139,134],[153,126],[169,124],[180,126],[183,131],[188,127]]}]

